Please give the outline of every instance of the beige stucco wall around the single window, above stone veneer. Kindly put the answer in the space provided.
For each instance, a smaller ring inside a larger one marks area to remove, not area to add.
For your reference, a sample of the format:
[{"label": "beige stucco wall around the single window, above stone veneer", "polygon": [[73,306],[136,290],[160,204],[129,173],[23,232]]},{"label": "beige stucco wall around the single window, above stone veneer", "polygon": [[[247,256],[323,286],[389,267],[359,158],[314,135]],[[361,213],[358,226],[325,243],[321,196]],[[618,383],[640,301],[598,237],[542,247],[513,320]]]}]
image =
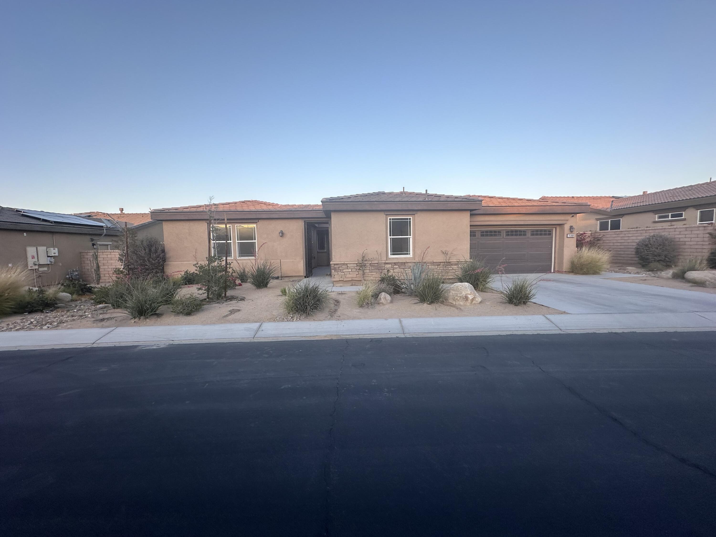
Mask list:
[{"label": "beige stucco wall around the single window, above stone veneer", "polygon": [[[388,218],[412,217],[412,256],[388,256]],[[470,256],[470,211],[334,211],[331,214],[332,263],[353,263],[363,252],[378,261],[412,263]]]}]

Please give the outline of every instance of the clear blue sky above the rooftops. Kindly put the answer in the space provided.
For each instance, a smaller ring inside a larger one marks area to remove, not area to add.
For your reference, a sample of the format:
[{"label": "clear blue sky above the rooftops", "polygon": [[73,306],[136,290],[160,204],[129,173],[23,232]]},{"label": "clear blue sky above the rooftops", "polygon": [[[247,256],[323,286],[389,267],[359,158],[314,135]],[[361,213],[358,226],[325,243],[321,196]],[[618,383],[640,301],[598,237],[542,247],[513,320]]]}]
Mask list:
[{"label": "clear blue sky above the rooftops", "polygon": [[716,1],[0,5],[0,205],[716,178]]}]

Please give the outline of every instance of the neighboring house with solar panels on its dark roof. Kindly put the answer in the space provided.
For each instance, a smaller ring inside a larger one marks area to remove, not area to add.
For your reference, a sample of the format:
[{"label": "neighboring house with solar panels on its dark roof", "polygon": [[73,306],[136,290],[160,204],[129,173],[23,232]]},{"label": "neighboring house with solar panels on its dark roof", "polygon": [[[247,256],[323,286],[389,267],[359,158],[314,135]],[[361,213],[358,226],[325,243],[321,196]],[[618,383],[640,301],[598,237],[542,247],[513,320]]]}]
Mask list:
[{"label": "neighboring house with solar panels on its dark roof", "polygon": [[26,267],[29,284],[55,284],[80,268],[80,252],[109,249],[118,235],[89,218],[0,207],[0,266]]}]

